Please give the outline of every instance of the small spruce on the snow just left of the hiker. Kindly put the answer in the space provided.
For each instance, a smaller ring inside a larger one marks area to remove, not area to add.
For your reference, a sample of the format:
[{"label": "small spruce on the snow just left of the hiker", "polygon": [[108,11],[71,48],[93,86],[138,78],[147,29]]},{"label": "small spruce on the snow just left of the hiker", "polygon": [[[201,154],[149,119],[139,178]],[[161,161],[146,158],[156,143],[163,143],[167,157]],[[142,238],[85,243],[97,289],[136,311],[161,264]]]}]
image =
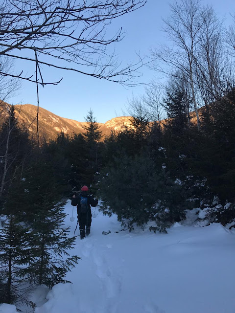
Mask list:
[{"label": "small spruce on the snow just left of the hiker", "polygon": [[78,263],[80,257],[70,256],[75,237],[68,237],[69,228],[63,228],[66,214],[63,213],[65,201],[43,197],[37,205],[37,217],[32,223],[32,246],[35,250],[31,263],[34,283],[52,288],[55,284],[69,282],[66,273]]}]

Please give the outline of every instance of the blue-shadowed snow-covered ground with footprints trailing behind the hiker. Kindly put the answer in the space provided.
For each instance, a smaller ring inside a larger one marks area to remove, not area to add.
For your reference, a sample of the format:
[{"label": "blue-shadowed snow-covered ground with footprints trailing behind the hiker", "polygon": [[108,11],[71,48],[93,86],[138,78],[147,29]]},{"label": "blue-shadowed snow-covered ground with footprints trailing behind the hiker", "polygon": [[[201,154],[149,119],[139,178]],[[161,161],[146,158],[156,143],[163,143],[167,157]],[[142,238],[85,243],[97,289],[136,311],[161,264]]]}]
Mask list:
[{"label": "blue-shadowed snow-covered ground with footprints trailing behind the hiker", "polygon": [[[70,203],[65,210],[72,235]],[[72,284],[54,286],[35,313],[235,313],[235,231],[188,224],[129,233],[98,213],[72,250],[82,257],[67,275]]]}]

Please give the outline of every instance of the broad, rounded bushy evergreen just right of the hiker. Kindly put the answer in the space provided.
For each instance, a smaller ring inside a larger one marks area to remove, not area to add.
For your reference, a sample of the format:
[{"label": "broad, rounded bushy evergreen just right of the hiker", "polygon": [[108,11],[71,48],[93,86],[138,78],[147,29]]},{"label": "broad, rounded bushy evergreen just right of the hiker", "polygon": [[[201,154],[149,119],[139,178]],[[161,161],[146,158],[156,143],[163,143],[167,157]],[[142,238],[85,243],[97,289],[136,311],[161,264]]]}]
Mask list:
[{"label": "broad, rounded bushy evergreen just right of the hiker", "polygon": [[103,212],[117,214],[130,230],[155,221],[156,229],[165,232],[167,226],[185,217],[187,192],[164,170],[157,170],[148,154],[116,158],[103,172],[98,186]]}]

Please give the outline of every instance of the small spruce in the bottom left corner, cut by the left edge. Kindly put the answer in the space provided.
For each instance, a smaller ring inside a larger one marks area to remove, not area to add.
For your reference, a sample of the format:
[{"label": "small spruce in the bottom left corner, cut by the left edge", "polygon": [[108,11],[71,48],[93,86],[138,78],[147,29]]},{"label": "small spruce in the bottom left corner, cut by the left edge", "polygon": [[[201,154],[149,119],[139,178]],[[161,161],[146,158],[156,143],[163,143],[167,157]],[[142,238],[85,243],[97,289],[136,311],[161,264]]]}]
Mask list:
[{"label": "small spruce in the bottom left corner, cut by the left edge", "polygon": [[30,263],[33,250],[30,246],[31,231],[10,215],[0,229],[0,303],[26,303],[30,286]]}]

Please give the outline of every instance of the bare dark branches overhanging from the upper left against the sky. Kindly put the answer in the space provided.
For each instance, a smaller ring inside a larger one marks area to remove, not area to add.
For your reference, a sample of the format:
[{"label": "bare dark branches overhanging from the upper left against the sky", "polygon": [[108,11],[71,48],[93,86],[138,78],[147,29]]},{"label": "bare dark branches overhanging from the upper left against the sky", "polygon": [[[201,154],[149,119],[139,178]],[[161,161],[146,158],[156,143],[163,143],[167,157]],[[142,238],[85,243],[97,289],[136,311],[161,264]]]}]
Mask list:
[{"label": "bare dark branches overhanging from the upper left against the sky", "polygon": [[[110,23],[146,0],[3,0],[0,5],[0,55],[36,62],[36,75],[19,77],[41,85],[43,66],[67,69],[121,84],[132,84],[137,64],[121,67],[109,46],[120,41],[122,29],[109,36]],[[35,77],[37,76],[37,77]],[[56,84],[53,82],[52,84]]]}]

